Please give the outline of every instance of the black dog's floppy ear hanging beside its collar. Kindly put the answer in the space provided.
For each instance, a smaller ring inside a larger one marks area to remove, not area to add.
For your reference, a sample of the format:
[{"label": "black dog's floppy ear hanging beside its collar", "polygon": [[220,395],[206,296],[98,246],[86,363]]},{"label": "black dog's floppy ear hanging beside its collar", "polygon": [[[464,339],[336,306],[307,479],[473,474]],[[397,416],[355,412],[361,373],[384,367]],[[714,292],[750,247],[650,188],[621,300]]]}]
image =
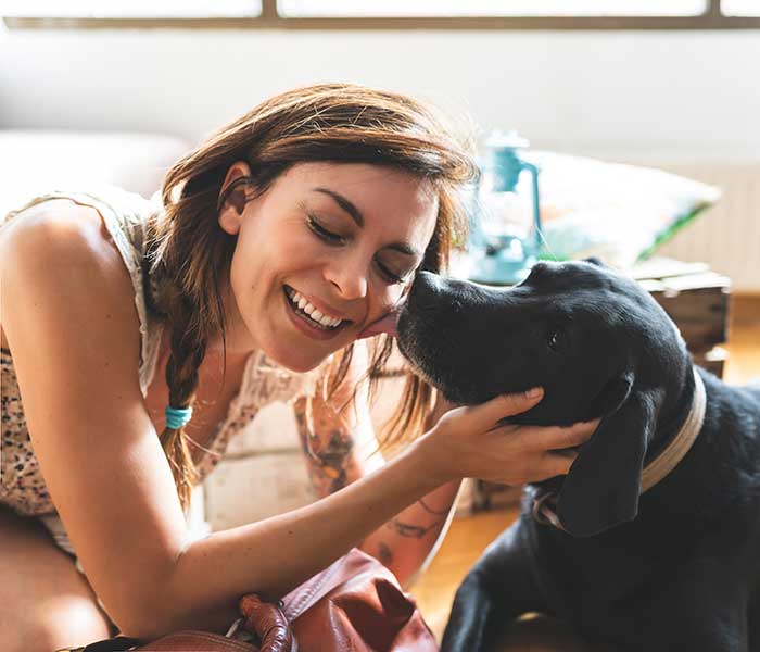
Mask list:
[{"label": "black dog's floppy ear hanging beside its collar", "polygon": [[[599,401],[601,423],[580,449],[562,482],[557,516],[575,537],[591,537],[638,512],[644,455],[655,430],[659,397],[633,387],[633,376],[610,381]],[[597,412],[598,414],[598,412]]]}]

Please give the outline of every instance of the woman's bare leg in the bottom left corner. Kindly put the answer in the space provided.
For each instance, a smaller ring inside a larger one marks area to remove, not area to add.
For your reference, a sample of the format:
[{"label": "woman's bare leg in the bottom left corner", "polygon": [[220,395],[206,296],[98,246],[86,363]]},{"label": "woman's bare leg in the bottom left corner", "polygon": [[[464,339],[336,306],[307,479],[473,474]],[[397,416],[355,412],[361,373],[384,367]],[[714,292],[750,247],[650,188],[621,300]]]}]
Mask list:
[{"label": "woman's bare leg in the bottom left corner", "polygon": [[111,636],[74,559],[34,518],[0,505],[0,650],[52,652]]}]

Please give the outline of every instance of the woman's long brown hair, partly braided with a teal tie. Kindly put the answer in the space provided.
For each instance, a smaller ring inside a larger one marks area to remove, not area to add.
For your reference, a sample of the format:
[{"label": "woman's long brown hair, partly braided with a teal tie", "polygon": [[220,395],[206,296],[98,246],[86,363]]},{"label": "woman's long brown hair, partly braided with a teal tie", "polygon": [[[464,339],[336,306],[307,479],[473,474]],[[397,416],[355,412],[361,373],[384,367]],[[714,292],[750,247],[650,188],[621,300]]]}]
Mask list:
[{"label": "woman's long brown hair, partly braided with a teal tie", "polygon": [[[276,96],[178,161],[164,178],[164,210],[149,222],[148,260],[161,279],[157,308],[170,329],[166,383],[173,408],[192,405],[211,338],[220,335],[226,344],[221,292],[235,236],[219,227],[217,217],[231,189],[220,197],[221,184],[236,161],[248,163],[257,192],[265,192],[292,165],[309,161],[371,163],[429,179],[438,192],[439,214],[421,268],[435,272],[446,268],[453,246],[464,241],[467,220],[459,189],[477,173],[471,139],[457,139],[432,108],[350,84],[320,84]],[[367,372],[370,396],[394,346],[393,338],[381,338]],[[332,389],[344,378],[352,353],[353,344],[341,351]],[[431,399],[432,388],[407,374],[381,446],[419,431]],[[183,428],[164,429],[161,442],[187,506],[198,475]]]}]

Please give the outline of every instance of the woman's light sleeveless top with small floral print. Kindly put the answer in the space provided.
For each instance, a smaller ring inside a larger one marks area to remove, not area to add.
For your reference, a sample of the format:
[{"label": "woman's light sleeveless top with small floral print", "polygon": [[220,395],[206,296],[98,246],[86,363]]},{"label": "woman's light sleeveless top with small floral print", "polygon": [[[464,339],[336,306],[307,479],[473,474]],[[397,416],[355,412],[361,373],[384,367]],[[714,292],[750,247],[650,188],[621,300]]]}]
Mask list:
[{"label": "woman's light sleeveless top with small floral print", "polygon": [[[155,305],[156,280],[147,264],[144,222],[148,215],[160,210],[160,203],[107,186],[93,193],[56,191],[36,197],[23,208],[0,217],[0,229],[24,211],[56,199],[67,199],[96,209],[129,272],[140,323],[140,389],[145,397],[155,373],[163,322],[150,308]],[[245,363],[238,396],[230,401],[226,418],[217,424],[205,446],[207,450],[197,464],[200,479],[216,466],[230,439],[249,425],[263,406],[275,401],[292,402],[301,396],[313,396],[319,376],[331,359],[328,358],[316,369],[302,374],[277,364],[262,351],[253,351]],[[5,349],[0,349],[0,503],[25,516],[53,514],[55,507],[27,430],[13,358]]]}]

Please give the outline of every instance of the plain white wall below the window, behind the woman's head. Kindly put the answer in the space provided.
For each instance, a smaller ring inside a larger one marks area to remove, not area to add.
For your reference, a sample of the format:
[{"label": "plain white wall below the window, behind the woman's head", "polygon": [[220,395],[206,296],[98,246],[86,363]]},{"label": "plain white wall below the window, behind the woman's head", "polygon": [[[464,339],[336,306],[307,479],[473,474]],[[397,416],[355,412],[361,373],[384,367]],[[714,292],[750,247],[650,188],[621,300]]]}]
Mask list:
[{"label": "plain white wall below the window, behind the woman's head", "polygon": [[198,140],[315,80],[413,92],[568,151],[760,152],[760,32],[10,32],[0,125]]}]

